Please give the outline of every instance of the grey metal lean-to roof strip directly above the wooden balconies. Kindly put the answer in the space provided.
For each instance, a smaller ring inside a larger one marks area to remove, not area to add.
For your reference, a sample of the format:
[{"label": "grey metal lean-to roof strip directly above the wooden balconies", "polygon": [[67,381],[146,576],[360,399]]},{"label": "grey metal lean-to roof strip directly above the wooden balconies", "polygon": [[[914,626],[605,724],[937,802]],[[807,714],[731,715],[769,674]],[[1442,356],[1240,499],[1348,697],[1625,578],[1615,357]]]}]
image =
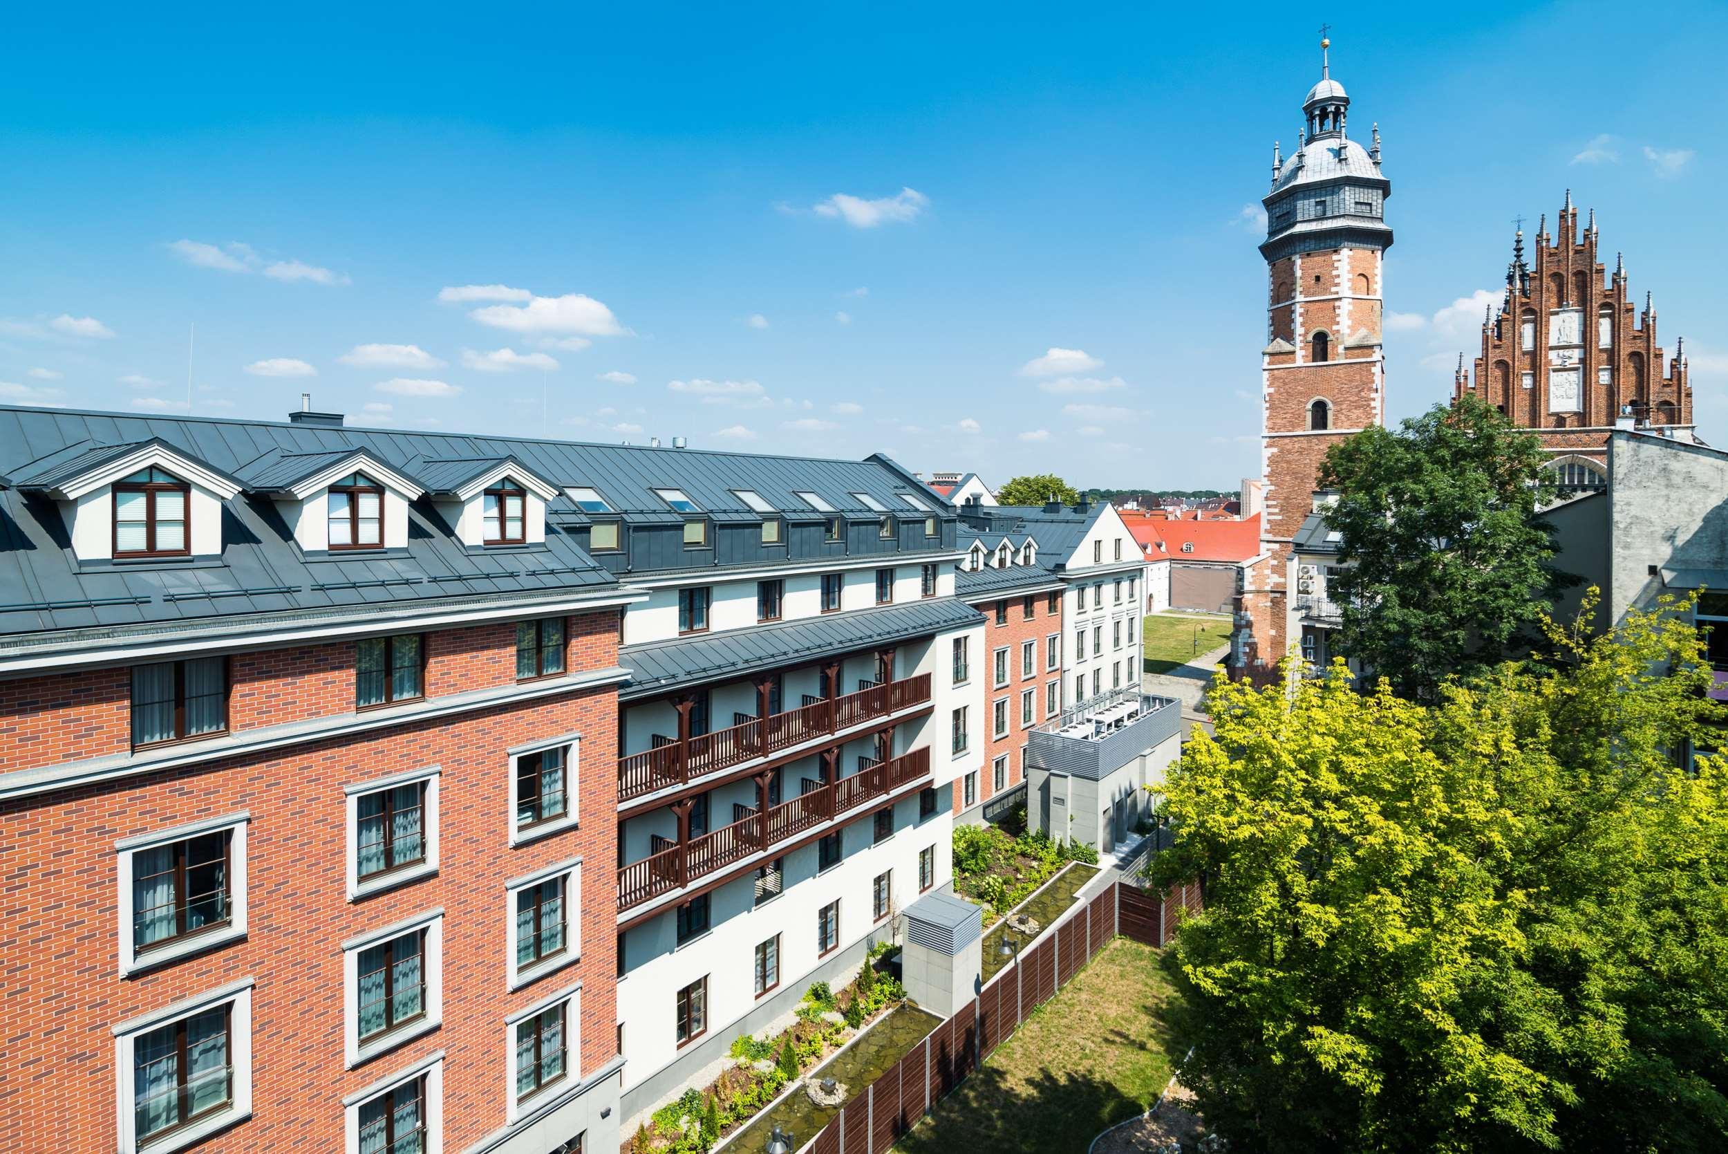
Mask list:
[{"label": "grey metal lean-to roof strip directly above the wooden balconies", "polygon": [[700,637],[672,637],[619,650],[619,665],[634,670],[626,698],[670,688],[726,681],[753,669],[786,665],[845,650],[904,641],[947,629],[976,625],[983,615],[956,598],[883,605],[831,617],[809,617]]}]

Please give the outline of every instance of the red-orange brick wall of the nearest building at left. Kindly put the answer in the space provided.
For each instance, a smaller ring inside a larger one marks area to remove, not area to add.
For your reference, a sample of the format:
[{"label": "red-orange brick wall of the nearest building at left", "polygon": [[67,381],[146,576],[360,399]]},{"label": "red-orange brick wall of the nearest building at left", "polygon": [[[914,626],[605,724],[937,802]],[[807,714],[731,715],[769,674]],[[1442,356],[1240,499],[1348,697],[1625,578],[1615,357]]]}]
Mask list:
[{"label": "red-orange brick wall of the nearest building at left", "polygon": [[[617,663],[615,612],[572,617],[567,632],[569,669]],[[235,655],[232,727],[351,713],[353,651]],[[510,684],[513,625],[432,632],[427,669],[432,696]],[[0,746],[10,767],[124,750],[126,713],[124,669],[16,681],[0,696]],[[444,1149],[461,1151],[505,1125],[505,1018],[575,981],[581,1069],[601,1068],[617,1049],[617,717],[615,688],[574,689],[0,803],[0,1152],[114,1149],[111,1028],[247,976],[252,1118],[199,1151],[340,1151],[340,1099],[434,1050],[446,1054]],[[506,750],[570,732],[581,734],[579,824],[511,848]],[[430,764],[441,767],[437,874],[349,900],[344,786]],[[242,810],[247,936],[121,978],[116,841]],[[508,992],[505,883],[575,857],[581,959]],[[346,1069],[340,942],[430,909],[444,910],[442,1026]]]}]

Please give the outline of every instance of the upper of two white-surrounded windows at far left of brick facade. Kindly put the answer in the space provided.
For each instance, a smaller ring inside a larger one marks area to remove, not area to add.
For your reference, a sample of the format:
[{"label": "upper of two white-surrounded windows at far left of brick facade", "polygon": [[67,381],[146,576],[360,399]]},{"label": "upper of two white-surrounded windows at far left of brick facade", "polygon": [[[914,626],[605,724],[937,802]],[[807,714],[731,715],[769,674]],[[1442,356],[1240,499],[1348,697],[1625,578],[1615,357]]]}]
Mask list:
[{"label": "upper of two white-surrounded windows at far left of brick facade", "polygon": [[232,924],[232,841],[233,831],[219,829],[133,853],[135,954]]}]

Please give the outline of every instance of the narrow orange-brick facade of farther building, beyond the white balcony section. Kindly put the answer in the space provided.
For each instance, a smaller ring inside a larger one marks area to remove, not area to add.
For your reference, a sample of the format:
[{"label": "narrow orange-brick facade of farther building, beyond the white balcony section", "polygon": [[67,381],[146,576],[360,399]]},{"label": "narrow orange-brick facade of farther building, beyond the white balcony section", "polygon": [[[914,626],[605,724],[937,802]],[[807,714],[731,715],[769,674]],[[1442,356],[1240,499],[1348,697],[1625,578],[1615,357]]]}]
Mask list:
[{"label": "narrow orange-brick facade of farther building, beyond the white balcony section", "polygon": [[[1032,617],[1026,617],[1025,601],[1032,601]],[[1007,624],[995,624],[995,606],[997,603],[1007,608]],[[1056,610],[1051,610],[1049,593],[1033,594],[1007,594],[1004,598],[985,598],[971,601],[971,605],[985,615],[983,625],[983,765],[978,772],[978,796],[973,805],[982,805],[995,796],[995,758],[1007,757],[1007,774],[1004,776],[1002,789],[1013,789],[1026,776],[1026,739],[1028,734],[1042,726],[1045,720],[1044,712],[1044,693],[1045,684],[1058,682],[1056,700],[1061,701],[1061,646],[1071,644],[1071,637],[1063,637],[1063,612],[1061,599],[1058,598]],[[1049,637],[1056,636],[1056,669],[1051,669],[1051,643]],[[1020,672],[1020,650],[1032,641],[1032,675],[1023,677]],[[1007,684],[997,686],[995,682],[995,651],[1007,648]],[[1026,689],[1033,691],[1032,698],[1032,724],[1021,726],[1020,722],[1020,694]],[[1007,700],[1007,732],[1001,738],[995,736],[995,703]],[[966,805],[966,783],[964,779],[954,783],[954,812],[971,808]]]}]

